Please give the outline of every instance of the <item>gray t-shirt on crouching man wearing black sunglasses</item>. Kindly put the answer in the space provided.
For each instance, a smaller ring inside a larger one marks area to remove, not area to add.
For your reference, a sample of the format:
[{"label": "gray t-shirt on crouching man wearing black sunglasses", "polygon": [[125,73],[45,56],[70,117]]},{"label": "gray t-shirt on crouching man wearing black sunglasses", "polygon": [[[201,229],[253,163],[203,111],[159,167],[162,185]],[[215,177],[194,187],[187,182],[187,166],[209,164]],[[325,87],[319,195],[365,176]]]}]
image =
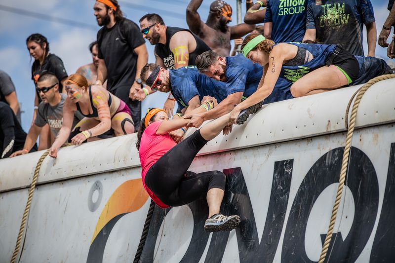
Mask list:
[{"label": "gray t-shirt on crouching man wearing black sunglasses", "polygon": [[[49,103],[40,102],[39,111],[37,113],[36,120],[34,124],[39,127],[44,126],[46,123],[49,124],[49,128],[51,132],[55,135],[58,135],[60,128],[63,123],[63,104],[67,98],[66,94],[61,93],[62,97],[60,102],[56,106],[51,106]],[[74,112],[74,121],[73,127],[83,118],[82,114],[79,111]]]}]

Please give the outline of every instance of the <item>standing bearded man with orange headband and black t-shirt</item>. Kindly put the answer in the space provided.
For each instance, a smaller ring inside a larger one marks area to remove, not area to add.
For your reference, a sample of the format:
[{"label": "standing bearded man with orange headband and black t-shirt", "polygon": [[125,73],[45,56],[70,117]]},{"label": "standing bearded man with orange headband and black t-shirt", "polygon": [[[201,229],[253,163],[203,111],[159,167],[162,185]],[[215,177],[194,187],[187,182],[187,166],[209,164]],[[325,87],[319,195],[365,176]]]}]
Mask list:
[{"label": "standing bearded man with orange headband and black t-shirt", "polygon": [[99,47],[96,84],[107,79],[107,89],[124,101],[132,113],[135,130],[141,118],[141,102],[136,94],[141,89],[141,69],[147,64],[148,52],[138,26],[123,17],[117,0],[97,0],[93,7]]}]

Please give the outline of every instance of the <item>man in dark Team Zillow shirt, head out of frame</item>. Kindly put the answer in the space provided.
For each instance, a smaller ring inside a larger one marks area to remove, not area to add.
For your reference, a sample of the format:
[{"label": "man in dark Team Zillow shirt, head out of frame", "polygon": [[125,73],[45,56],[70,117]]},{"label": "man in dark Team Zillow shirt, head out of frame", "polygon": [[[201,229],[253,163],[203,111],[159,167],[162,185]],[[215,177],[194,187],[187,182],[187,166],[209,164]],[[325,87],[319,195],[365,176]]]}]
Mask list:
[{"label": "man in dark Team Zillow shirt, head out of frame", "polygon": [[368,54],[374,57],[376,23],[370,0],[309,0],[306,34],[303,40],[340,44],[354,55],[363,56],[362,29],[366,26]]}]

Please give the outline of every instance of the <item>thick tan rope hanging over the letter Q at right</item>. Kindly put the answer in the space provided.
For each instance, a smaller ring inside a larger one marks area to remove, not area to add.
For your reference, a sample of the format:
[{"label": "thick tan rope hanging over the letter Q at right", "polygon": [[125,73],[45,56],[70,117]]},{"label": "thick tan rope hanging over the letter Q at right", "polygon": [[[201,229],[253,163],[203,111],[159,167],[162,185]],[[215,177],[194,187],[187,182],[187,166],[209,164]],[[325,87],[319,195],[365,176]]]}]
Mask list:
[{"label": "thick tan rope hanging over the letter Q at right", "polygon": [[[373,84],[375,84],[381,80],[390,79],[390,78],[395,78],[395,74],[381,75],[381,76],[372,78],[360,88],[360,90],[358,91],[358,94],[356,95],[353,109],[351,111],[350,125],[348,126],[348,130],[347,130],[346,147],[344,148],[344,152],[343,152],[343,162],[342,162],[342,168],[340,170],[339,186],[337,188],[336,199],[335,199],[335,203],[334,203],[333,209],[332,209],[332,216],[330,219],[328,232],[326,233],[324,245],[322,246],[322,251],[321,251],[321,255],[319,256],[318,263],[323,263],[325,261],[326,253],[328,252],[329,244],[332,239],[333,228],[335,226],[337,211],[339,209],[340,200],[342,198],[344,181],[346,178],[346,172],[347,172],[348,163],[349,163],[351,143],[353,140],[354,128],[355,128],[355,123],[356,123],[356,112],[358,110],[359,103],[362,99],[363,94],[365,94],[366,90],[368,90]],[[351,100],[353,100],[353,99],[354,99],[354,95],[351,98]],[[346,120],[347,120],[347,118],[348,118],[348,116],[346,116]]]}]

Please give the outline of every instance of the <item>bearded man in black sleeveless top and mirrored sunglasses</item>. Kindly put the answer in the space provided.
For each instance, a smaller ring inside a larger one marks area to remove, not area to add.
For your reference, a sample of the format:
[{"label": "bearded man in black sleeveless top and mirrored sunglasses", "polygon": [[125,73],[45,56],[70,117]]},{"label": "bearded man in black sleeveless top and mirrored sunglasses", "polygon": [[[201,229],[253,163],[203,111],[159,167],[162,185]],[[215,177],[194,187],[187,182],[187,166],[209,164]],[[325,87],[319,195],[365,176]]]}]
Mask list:
[{"label": "bearded man in black sleeveless top and mirrored sunglasses", "polygon": [[[178,69],[196,65],[198,55],[210,48],[188,29],[167,27],[158,14],[146,14],[140,18],[141,33],[155,45],[156,64],[165,69]],[[146,90],[146,95],[151,93]],[[171,116],[175,99],[169,94],[164,110]]]}]

